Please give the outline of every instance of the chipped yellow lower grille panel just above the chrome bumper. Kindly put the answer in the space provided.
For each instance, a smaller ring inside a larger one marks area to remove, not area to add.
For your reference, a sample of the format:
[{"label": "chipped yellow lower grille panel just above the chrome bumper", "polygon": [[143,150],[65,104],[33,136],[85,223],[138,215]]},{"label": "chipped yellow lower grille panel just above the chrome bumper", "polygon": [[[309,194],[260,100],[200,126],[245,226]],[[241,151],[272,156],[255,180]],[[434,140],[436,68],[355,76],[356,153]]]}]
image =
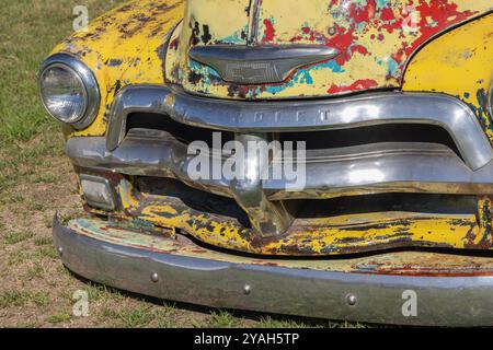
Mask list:
[{"label": "chipped yellow lower grille panel just above the chrome bumper", "polygon": [[110,214],[112,220],[134,222],[144,230],[184,232],[213,246],[243,253],[331,256],[405,247],[493,248],[493,208],[489,197],[478,199],[474,213],[385,211],[300,218],[282,236],[262,238],[236,218],[196,210],[173,195],[139,191],[119,176],[113,185],[122,207]]}]

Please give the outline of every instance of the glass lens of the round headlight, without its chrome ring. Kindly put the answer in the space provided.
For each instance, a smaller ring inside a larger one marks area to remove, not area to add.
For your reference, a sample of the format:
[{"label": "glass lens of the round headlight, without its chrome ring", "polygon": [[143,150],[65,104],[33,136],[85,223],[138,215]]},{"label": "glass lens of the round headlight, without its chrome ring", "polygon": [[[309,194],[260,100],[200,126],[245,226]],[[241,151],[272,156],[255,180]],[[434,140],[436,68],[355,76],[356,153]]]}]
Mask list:
[{"label": "glass lens of the round headlight, without its chrome ring", "polygon": [[41,77],[41,94],[49,114],[60,121],[79,121],[88,107],[88,94],[81,78],[69,67],[54,65]]}]

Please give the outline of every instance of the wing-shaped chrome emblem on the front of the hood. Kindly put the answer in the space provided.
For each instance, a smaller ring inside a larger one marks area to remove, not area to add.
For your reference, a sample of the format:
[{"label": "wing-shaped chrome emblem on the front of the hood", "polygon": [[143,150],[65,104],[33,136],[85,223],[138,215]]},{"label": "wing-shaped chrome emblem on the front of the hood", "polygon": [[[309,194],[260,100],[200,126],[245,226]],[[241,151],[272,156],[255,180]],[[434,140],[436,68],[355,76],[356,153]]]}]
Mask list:
[{"label": "wing-shaped chrome emblem on the front of the hood", "polygon": [[239,84],[280,83],[298,68],[328,61],[340,51],[326,46],[195,46],[190,58]]}]

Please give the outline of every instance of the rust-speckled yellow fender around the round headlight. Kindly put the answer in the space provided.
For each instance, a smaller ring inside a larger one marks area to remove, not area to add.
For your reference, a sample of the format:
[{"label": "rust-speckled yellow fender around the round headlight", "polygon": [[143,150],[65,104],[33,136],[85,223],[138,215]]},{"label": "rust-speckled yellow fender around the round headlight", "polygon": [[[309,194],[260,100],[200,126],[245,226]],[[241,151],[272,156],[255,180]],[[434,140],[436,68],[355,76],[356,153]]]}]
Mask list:
[{"label": "rust-speckled yellow fender around the round headlight", "polygon": [[167,35],[183,18],[182,0],[130,1],[94,20],[53,51],[70,54],[94,72],[101,91],[101,106],[87,129],[66,129],[73,136],[103,136],[106,116],[116,93],[128,84],[163,83],[162,59]]}]

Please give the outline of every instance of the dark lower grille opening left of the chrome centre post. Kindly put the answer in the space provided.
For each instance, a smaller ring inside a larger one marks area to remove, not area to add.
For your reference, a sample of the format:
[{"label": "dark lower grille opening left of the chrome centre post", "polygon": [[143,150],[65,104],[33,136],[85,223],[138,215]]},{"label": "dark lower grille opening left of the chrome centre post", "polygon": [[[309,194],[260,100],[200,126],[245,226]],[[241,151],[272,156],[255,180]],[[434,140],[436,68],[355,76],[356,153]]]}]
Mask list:
[{"label": "dark lower grille opening left of the chrome centre post", "polygon": [[200,212],[237,219],[241,225],[251,229],[249,217],[231,198],[195,189],[173,178],[138,177],[136,186],[148,195],[181,199],[185,206]]}]

